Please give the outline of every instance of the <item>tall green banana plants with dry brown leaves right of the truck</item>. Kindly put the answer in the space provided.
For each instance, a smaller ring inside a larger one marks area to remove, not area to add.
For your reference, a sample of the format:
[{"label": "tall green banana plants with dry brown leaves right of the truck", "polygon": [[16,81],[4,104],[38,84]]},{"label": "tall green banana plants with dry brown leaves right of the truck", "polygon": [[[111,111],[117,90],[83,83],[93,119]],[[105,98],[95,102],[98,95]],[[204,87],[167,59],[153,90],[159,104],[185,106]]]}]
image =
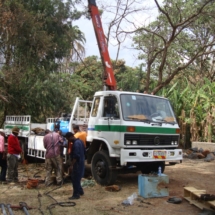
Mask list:
[{"label": "tall green banana plants with dry brown leaves right of the truck", "polygon": [[[198,79],[197,79],[198,80]],[[158,95],[170,99],[182,136],[190,128],[191,141],[215,141],[215,84],[209,79],[193,85],[186,77],[177,76],[174,84],[163,88]]]}]

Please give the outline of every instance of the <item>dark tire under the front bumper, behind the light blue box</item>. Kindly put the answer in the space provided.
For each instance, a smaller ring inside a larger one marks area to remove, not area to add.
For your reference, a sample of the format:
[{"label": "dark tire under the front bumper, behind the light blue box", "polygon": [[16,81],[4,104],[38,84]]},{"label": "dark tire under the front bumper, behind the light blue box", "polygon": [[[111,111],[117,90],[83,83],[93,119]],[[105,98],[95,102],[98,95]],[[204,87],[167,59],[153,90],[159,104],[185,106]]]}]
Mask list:
[{"label": "dark tire under the front bumper, behind the light blue box", "polygon": [[163,173],[165,170],[165,162],[164,161],[144,162],[141,164],[140,170],[143,174],[149,174],[152,172],[157,173],[159,166],[161,167],[161,172]]}]

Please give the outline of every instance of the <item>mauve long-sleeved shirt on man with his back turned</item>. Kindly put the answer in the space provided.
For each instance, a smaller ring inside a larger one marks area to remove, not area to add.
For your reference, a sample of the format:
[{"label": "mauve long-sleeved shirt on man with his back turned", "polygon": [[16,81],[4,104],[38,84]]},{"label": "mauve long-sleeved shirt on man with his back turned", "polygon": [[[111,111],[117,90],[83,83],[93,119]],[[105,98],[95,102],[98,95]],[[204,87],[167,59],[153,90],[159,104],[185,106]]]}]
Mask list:
[{"label": "mauve long-sleeved shirt on man with his back turned", "polygon": [[60,144],[62,138],[56,132],[50,132],[43,138],[44,148],[46,149],[46,158],[53,158],[60,155]]}]

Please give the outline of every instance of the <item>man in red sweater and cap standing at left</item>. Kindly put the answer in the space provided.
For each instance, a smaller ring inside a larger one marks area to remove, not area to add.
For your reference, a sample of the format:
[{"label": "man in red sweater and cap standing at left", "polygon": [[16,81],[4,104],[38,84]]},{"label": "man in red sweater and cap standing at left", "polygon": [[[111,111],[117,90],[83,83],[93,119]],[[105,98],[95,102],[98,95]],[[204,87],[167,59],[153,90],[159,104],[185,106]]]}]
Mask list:
[{"label": "man in red sweater and cap standing at left", "polygon": [[8,137],[8,182],[18,182],[18,161],[21,158],[22,149],[18,140],[19,128],[13,127],[12,134]]}]

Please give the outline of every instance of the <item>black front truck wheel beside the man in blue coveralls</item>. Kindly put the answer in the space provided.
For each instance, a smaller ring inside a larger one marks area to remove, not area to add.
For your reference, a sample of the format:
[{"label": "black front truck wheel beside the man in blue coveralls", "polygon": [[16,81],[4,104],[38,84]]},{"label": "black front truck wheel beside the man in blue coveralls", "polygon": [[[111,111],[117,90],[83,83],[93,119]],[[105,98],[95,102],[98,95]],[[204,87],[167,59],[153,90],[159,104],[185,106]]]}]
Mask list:
[{"label": "black front truck wheel beside the man in blue coveralls", "polygon": [[92,158],[91,171],[95,181],[100,185],[111,185],[117,178],[117,170],[114,158],[110,158],[105,151],[96,152]]}]

